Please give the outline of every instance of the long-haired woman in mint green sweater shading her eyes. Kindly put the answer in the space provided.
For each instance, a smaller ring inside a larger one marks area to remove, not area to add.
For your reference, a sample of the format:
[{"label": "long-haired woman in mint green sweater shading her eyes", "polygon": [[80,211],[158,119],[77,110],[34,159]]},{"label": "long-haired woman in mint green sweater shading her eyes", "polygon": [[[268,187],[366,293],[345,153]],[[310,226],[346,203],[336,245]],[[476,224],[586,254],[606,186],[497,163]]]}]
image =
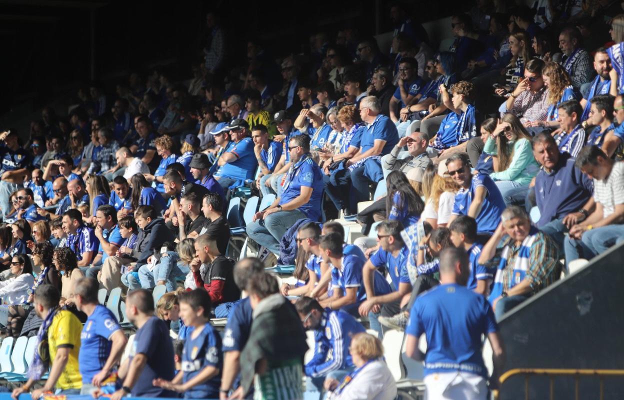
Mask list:
[{"label": "long-haired woman in mint green sweater shading her eyes", "polygon": [[520,124],[518,117],[507,113],[485,142],[483,151],[498,158],[498,172],[490,173],[490,178],[509,206],[510,192],[520,187],[528,189],[539,170],[533,157],[529,132]]}]

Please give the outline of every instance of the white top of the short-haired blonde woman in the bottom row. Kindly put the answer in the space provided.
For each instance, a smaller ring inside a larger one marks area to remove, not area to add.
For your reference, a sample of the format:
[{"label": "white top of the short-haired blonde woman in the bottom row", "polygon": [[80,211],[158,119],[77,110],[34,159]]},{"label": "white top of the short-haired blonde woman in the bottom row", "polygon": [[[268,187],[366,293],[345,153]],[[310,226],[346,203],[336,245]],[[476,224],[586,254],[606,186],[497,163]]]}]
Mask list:
[{"label": "white top of the short-haired blonde woman in the bottom row", "polygon": [[359,371],[336,400],[392,400],[396,398],[396,382],[384,361],[376,360]]}]

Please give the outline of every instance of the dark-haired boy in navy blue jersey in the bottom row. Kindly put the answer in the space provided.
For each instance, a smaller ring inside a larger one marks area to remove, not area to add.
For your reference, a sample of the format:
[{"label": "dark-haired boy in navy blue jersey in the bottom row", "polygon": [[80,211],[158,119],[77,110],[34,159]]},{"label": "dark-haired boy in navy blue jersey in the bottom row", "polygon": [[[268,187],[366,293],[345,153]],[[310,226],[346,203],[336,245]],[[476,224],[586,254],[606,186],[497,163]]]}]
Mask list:
[{"label": "dark-haired boy in navy blue jersey in the bottom row", "polygon": [[184,393],[185,399],[216,399],[221,386],[221,336],[210,321],[210,296],[203,289],[180,293],[180,316],[193,328],[182,351],[182,371],[172,381],[154,379],[154,386]]}]

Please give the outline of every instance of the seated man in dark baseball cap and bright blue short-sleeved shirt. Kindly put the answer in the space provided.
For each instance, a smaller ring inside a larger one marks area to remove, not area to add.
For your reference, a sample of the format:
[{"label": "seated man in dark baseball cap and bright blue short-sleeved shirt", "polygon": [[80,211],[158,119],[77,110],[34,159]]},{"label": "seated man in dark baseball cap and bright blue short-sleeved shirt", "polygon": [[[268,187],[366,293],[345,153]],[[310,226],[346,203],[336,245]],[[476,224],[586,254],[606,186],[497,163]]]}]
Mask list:
[{"label": "seated man in dark baseball cap and bright blue short-sleeved shirt", "polygon": [[218,169],[215,172],[215,178],[223,190],[228,190],[232,185],[243,185],[245,180],[253,179],[258,168],[247,121],[237,118],[230,122],[227,129],[230,130],[234,144],[218,157]]}]

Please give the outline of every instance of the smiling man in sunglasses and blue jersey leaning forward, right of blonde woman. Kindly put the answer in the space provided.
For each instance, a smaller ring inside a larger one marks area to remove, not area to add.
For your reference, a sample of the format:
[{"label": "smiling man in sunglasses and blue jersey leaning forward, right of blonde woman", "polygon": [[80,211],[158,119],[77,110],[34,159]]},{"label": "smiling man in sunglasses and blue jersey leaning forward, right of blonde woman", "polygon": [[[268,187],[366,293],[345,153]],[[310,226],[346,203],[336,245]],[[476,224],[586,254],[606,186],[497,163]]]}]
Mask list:
[{"label": "smiling man in sunglasses and blue jersey leaning forward, right of blonde woman", "polygon": [[448,174],[459,185],[455,195],[452,217],[467,215],[477,220],[479,233],[492,235],[499,226],[500,214],[505,209],[505,202],[499,188],[487,175],[470,173],[470,163],[465,153],[456,153],[446,160]]}]

